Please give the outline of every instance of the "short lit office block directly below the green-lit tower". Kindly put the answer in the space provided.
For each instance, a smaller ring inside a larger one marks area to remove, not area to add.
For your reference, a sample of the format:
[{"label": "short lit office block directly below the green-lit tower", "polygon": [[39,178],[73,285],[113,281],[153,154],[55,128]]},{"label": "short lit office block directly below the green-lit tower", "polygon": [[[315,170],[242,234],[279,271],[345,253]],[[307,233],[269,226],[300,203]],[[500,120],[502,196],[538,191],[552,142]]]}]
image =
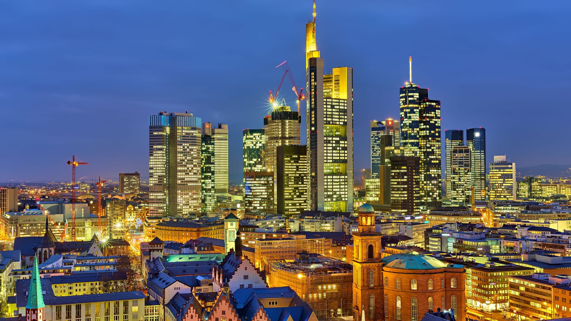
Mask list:
[{"label": "short lit office block directly below the green-lit tower", "polygon": [[274,212],[274,173],[246,172],[244,179],[246,211]]}]

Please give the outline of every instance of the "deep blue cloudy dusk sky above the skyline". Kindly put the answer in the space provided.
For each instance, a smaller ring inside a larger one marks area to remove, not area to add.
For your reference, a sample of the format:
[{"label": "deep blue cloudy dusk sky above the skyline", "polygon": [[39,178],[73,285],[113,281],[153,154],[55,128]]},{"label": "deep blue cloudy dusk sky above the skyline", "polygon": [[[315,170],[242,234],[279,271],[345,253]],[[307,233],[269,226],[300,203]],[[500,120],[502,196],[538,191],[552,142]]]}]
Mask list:
[{"label": "deep blue cloudy dusk sky above the skyline", "polygon": [[[263,127],[288,61],[305,87],[304,1],[0,1],[0,180],[148,177],[148,115],[188,110]],[[485,127],[488,161],[569,164],[571,1],[317,0],[325,70],[353,67],[355,172],[369,121],[399,117],[408,78],[441,101],[445,129]],[[282,97],[295,105],[291,85]],[[305,103],[302,105],[303,114]],[[301,123],[305,141],[305,117]],[[444,141],[443,141],[444,142]]]}]

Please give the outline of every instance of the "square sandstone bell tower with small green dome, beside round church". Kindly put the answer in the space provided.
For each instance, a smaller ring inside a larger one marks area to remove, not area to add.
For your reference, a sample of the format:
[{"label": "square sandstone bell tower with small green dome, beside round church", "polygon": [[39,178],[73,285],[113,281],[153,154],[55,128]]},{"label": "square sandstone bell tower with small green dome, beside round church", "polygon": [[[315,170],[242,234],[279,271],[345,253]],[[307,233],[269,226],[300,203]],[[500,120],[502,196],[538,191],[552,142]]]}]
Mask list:
[{"label": "square sandstone bell tower with small green dome, beside round church", "polygon": [[375,232],[375,210],[359,208],[359,231],[353,232],[353,321],[384,319],[381,236]]}]

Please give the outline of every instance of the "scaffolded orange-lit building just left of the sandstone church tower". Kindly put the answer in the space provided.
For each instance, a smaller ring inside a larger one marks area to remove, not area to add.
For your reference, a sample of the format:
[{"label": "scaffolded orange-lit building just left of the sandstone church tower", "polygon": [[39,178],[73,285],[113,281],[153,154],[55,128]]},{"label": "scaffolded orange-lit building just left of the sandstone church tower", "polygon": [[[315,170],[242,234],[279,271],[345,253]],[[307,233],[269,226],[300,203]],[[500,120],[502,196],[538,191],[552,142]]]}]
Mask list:
[{"label": "scaffolded orange-lit building just left of the sandstone church tower", "polygon": [[291,287],[319,319],[353,314],[351,264],[316,254],[299,254],[291,263],[271,262],[268,284]]}]

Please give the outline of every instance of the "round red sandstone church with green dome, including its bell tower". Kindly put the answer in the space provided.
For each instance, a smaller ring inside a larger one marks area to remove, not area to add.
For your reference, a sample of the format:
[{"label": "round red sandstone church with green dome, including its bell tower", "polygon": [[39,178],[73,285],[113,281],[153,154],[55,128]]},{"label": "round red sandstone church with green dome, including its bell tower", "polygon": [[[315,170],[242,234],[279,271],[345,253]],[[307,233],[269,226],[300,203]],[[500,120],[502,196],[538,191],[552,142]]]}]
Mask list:
[{"label": "round red sandstone church with green dome, including its bell tower", "polygon": [[375,212],[359,208],[359,230],[353,232],[353,321],[419,321],[428,310],[454,309],[464,320],[463,265],[442,262],[413,251],[381,255]]}]

